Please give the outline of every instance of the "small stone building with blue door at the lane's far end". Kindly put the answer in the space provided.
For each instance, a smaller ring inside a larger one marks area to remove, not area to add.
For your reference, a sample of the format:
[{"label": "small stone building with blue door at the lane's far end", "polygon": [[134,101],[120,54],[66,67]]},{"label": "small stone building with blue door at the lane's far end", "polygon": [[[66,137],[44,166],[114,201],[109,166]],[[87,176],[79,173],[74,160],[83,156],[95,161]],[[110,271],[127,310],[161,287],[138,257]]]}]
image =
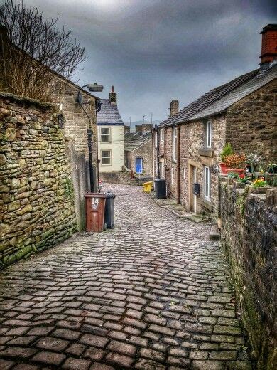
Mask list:
[{"label": "small stone building with blue door at the lane's far end", "polygon": [[142,177],[153,177],[152,125],[136,126],[136,132],[124,127],[125,166],[133,174]]}]

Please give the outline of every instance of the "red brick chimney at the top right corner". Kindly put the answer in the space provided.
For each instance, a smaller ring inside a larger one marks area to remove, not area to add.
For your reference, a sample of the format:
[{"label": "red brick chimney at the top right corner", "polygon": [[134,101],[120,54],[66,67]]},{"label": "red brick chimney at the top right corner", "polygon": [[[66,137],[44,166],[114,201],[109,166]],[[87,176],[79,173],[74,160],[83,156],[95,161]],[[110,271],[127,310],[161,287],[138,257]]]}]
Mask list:
[{"label": "red brick chimney at the top right corner", "polygon": [[268,24],[261,31],[261,69],[277,63],[277,24]]}]

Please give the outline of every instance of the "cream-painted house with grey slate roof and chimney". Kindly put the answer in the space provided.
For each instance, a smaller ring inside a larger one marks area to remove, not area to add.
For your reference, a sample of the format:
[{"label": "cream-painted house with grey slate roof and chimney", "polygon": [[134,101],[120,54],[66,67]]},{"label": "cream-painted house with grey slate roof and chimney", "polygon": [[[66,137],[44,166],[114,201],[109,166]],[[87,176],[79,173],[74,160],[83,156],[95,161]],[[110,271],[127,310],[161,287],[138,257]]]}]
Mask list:
[{"label": "cream-painted house with grey slate roof and chimney", "polygon": [[109,99],[101,100],[101,110],[97,116],[99,176],[122,171],[124,166],[124,123],[117,107],[117,94],[114,86]]}]

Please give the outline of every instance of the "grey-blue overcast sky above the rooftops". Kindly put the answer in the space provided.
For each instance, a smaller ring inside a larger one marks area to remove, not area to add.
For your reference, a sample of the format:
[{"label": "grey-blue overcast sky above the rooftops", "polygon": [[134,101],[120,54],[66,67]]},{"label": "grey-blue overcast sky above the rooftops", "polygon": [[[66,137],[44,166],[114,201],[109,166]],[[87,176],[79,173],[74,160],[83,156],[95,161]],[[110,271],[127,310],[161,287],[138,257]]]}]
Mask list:
[{"label": "grey-blue overcast sky above the rooftops", "polygon": [[118,93],[124,121],[168,117],[217,85],[258,68],[259,32],[276,23],[276,1],[25,0],[45,17],[60,15],[86,49],[78,84]]}]

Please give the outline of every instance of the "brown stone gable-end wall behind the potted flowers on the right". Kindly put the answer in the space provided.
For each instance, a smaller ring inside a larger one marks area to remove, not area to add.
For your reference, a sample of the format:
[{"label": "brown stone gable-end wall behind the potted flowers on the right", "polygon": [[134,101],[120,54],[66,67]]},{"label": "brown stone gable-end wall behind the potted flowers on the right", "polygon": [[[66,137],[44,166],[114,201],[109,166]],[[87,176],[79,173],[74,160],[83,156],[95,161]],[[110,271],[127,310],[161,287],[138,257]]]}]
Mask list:
[{"label": "brown stone gable-end wall behind the potted flowers on the right", "polygon": [[277,160],[277,80],[244,97],[227,112],[227,142],[236,152]]}]

